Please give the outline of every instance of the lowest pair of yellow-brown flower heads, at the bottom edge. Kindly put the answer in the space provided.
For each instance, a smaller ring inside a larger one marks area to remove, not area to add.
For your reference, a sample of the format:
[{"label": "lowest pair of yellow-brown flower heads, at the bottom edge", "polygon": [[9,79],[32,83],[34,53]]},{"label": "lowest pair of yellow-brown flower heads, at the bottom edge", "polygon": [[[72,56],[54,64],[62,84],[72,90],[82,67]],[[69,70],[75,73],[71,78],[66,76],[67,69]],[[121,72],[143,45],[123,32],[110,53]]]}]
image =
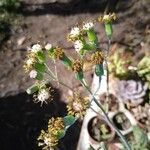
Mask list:
[{"label": "lowest pair of yellow-brown flower heads, at the bottom edge", "polygon": [[58,133],[64,131],[64,121],[63,118],[51,118],[48,122],[47,131],[42,130],[40,136],[38,137],[39,146],[43,147],[43,150],[49,150],[58,144]]}]

